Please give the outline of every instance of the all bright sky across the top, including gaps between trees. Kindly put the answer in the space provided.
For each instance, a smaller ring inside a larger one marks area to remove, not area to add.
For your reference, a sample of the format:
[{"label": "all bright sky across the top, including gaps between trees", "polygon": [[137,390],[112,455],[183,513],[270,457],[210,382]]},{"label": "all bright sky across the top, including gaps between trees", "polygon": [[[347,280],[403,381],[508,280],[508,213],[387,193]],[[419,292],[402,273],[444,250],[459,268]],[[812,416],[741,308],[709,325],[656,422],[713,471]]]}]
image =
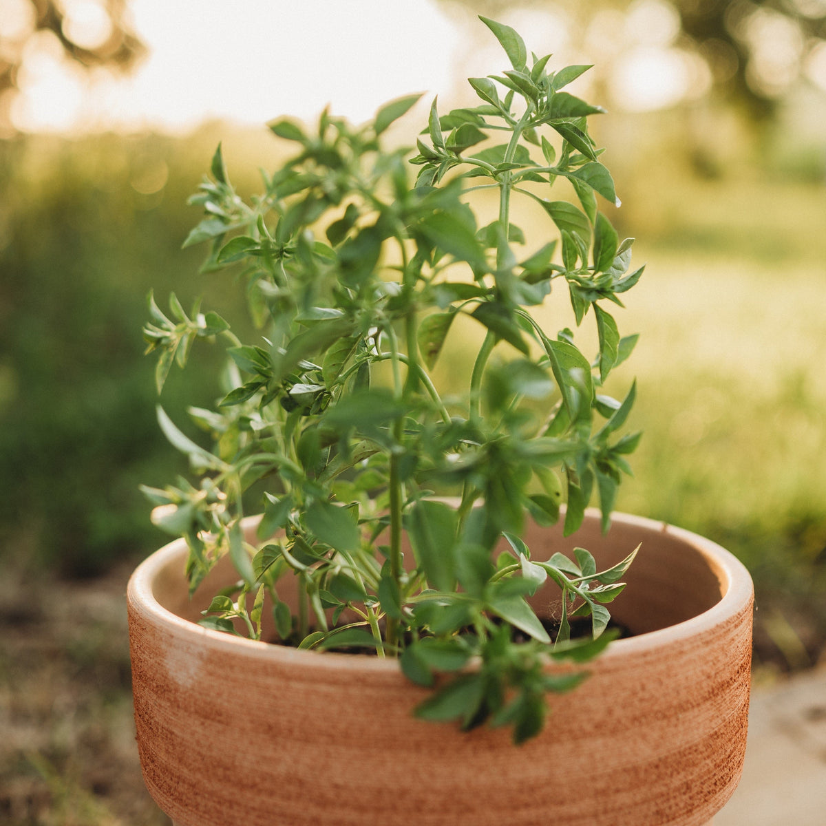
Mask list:
[{"label": "all bright sky across the top, including gaps between trees", "polygon": [[[71,36],[106,40],[100,2],[61,0]],[[444,102],[463,78],[506,68],[469,8],[462,16],[453,7],[449,16],[435,0],[131,0],[129,7],[149,54],[133,74],[113,78],[106,70],[84,74],[50,33],[29,37],[28,0],[0,0],[0,35],[17,37],[23,49],[21,94],[11,102],[17,128],[188,131],[218,117],[257,126],[283,114],[313,117],[328,103],[358,122],[393,97],[439,93]],[[772,45],[766,70],[777,78],[779,64],[788,69],[799,59],[794,32],[784,30],[784,40],[779,16],[758,17],[749,25]],[[596,60],[609,98],[600,102],[612,108],[669,107],[710,85],[705,62],[677,45],[679,18],[668,0],[633,0],[626,13],[596,7],[578,21],[549,2],[541,11],[515,7],[502,22],[529,50],[553,51],[562,65]],[[826,49],[814,50],[809,64],[826,86]]]}]

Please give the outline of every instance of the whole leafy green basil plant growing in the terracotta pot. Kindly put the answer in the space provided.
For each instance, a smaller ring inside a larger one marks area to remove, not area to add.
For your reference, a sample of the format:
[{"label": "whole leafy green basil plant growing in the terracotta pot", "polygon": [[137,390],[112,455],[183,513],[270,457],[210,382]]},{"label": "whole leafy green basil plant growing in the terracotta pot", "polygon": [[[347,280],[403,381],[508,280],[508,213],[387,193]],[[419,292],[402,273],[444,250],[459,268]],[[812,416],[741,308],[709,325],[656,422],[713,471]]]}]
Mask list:
[{"label": "whole leafy green basil plant growing in the terracotta pot", "polygon": [[[565,91],[589,67],[552,71],[481,19],[510,68],[470,78],[475,107],[434,101],[415,150],[384,141],[417,95],[360,126],[280,119],[269,128],[295,151],[247,202],[219,145],[185,245],[208,245],[206,272],[235,271],[258,331],[242,341],[215,311],[187,313],[173,295],[166,314],[150,297],[159,391],[196,341],[228,358],[215,408],[189,410],[210,447],[158,411],[194,481],[145,493],[154,523],[186,539],[192,591],[221,555],[235,564],[203,624],[236,633],[240,619],[259,639],[267,613],[271,642],[396,657],[434,686],[422,718],[507,724],[522,742],[548,692],[582,680],[548,660],[584,662],[612,636],[605,605],[634,555],[600,571],[582,548],[532,558],[521,537],[526,520],[562,518],[563,498],[565,534],[592,498],[608,528],[639,439],[619,434],[634,386],[622,401],[601,392],[636,341],[611,310],[642,268],[598,208],[619,204],[588,131],[603,110]],[[554,199],[561,179],[573,202]],[[498,215],[482,225],[485,190]],[[539,244],[510,221],[517,196],[544,221]],[[549,298],[570,301],[576,325],[595,316],[591,358],[572,330],[544,329]],[[431,374],[474,325],[469,375],[445,395]],[[259,511],[249,544],[241,520]],[[290,579],[297,615],[279,597]],[[526,600],[548,579],[562,590],[553,624]],[[573,616],[590,617],[584,638],[571,639]]]}]

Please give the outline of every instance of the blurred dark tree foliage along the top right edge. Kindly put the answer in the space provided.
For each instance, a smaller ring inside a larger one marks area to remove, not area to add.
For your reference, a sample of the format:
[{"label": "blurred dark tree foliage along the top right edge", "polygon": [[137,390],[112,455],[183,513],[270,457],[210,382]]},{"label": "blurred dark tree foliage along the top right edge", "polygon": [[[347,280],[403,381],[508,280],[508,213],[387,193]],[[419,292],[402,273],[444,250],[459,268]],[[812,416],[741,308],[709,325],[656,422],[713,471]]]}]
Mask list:
[{"label": "blurred dark tree foliage along the top right edge", "polygon": [[[675,45],[705,61],[714,94],[765,121],[818,58],[826,63],[826,0],[441,0],[505,18],[517,9],[563,11],[582,31],[596,12],[666,7],[676,12]],[[618,31],[617,37],[621,36]],[[595,55],[596,59],[597,55]]]}]

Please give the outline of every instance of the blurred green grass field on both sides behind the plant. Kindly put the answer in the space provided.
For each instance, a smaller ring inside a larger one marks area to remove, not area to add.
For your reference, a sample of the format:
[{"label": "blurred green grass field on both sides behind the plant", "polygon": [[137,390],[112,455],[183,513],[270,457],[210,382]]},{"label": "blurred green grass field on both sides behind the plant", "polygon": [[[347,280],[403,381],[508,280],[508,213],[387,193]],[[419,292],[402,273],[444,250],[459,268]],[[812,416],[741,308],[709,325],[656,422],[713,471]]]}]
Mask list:
[{"label": "blurred green grass field on both sides behind the plant", "polygon": [[[185,467],[155,425],[140,327],[150,287],[162,304],[174,290],[184,306],[203,294],[243,315],[233,278],[198,275],[202,251],[180,249],[220,134],[0,145],[0,553],[88,574],[164,541],[137,486]],[[224,136],[230,174],[253,187],[278,146],[263,130]],[[644,174],[651,145],[614,152],[624,207],[612,219],[647,263],[617,315],[623,334],[642,334],[616,392],[638,377],[632,424],[645,431],[619,507],[731,548],[767,606],[800,612],[814,656],[826,638],[826,189],[776,164],[710,174],[674,140],[661,135]],[[161,401],[178,421],[184,400],[213,401],[215,356],[202,348],[192,371],[173,371]]]}]

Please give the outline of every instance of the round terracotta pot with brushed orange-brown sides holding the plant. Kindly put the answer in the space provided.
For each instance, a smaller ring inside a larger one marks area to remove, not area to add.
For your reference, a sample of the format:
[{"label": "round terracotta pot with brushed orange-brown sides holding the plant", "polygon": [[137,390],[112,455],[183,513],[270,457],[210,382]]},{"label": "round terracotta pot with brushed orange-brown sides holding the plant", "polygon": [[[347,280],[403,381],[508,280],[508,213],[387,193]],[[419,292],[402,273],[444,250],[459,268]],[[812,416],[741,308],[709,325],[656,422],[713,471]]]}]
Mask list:
[{"label": "round terracotta pot with brushed orange-brown sides holding the plant", "polygon": [[[574,541],[575,540],[575,541]],[[700,826],[743,767],[752,582],[718,545],[589,513],[576,537],[531,529],[534,558],[574,544],[601,566],[642,548],[612,614],[612,643],[580,688],[550,697],[524,746],[411,716],[426,690],[396,662],[315,653],[193,624],[182,541],[137,568],[128,602],[135,724],[145,782],[181,826]],[[279,591],[280,592],[280,591]],[[538,595],[553,601],[553,593]]]}]

